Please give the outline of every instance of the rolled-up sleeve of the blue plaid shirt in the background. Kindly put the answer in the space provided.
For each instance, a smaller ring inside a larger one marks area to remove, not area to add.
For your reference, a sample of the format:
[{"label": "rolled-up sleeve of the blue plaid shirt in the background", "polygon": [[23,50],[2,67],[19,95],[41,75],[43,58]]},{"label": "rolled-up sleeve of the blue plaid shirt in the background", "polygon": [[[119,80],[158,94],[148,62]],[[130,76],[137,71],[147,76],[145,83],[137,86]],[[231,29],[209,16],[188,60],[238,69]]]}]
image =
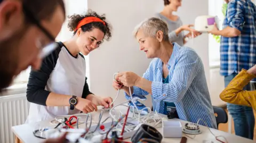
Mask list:
[{"label": "rolled-up sleeve of the blue plaid shirt in the background", "polygon": [[231,1],[227,8],[228,26],[242,31],[244,26],[243,4],[239,1]]}]

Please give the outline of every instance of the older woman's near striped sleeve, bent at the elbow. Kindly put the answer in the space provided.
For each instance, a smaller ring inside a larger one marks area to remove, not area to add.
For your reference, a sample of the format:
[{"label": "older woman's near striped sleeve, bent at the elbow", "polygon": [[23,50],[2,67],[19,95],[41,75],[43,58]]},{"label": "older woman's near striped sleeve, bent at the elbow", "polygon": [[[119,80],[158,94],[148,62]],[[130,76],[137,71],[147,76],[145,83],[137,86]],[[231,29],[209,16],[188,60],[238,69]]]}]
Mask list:
[{"label": "older woman's near striped sleeve, bent at the elbow", "polygon": [[152,82],[153,99],[156,102],[161,100],[179,102],[186,94],[200,68],[202,68],[202,62],[194,51],[187,51],[181,54],[169,83]]}]

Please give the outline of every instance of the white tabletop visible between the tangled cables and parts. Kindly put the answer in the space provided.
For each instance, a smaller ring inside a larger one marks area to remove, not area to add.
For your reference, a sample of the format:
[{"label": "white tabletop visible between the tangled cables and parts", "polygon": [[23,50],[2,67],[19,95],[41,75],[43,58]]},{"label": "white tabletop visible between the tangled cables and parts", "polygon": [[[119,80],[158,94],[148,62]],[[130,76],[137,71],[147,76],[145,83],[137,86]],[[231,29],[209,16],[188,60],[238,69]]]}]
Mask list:
[{"label": "white tabletop visible between the tangled cables and parts", "polygon": [[[123,111],[123,113],[126,113],[126,109],[125,108],[117,108],[116,111],[121,110]],[[100,114],[101,110],[98,110],[97,112],[93,112],[92,113],[92,119],[93,121],[98,121],[99,118],[99,114]],[[103,112],[103,116],[102,119],[106,119],[106,117],[109,116],[109,112],[104,111]],[[181,121],[182,125],[184,125],[185,123],[187,123],[186,121],[183,120],[179,120],[179,119],[172,119],[173,121]],[[34,130],[34,125],[35,124],[22,124],[22,125],[17,125],[12,127],[12,131],[16,136],[16,142],[23,142],[23,143],[30,143],[30,142],[43,142],[44,139],[39,139],[37,137],[34,136],[33,134],[33,130]],[[53,125],[50,124],[50,121],[42,121],[39,122],[39,125],[41,125],[42,127],[53,127]],[[84,128],[85,125],[81,124],[79,125],[79,128]],[[201,134],[197,134],[196,137],[194,139],[190,139],[188,138],[184,133],[183,136],[187,137],[187,142],[188,143],[192,143],[192,142],[203,142],[203,140],[207,139],[207,140],[212,140],[214,142],[218,142],[217,140],[215,140],[215,137],[211,134],[211,132],[209,131],[209,129],[207,127],[204,126],[200,126],[202,133]],[[230,134],[227,132],[223,132],[223,131],[219,131],[219,130],[215,130],[215,129],[210,129],[215,136],[224,136],[229,143],[233,143],[233,142],[246,142],[246,143],[250,143],[250,142],[254,142],[253,140],[249,140],[246,138],[242,138],[242,137],[238,137],[235,136],[234,134]],[[163,134],[162,128],[158,128],[158,131],[161,132]],[[189,135],[190,137],[193,137],[194,135]],[[179,143],[180,142],[180,138],[163,138],[162,142],[172,142],[172,143]],[[130,139],[127,139],[127,141],[130,141]]]}]

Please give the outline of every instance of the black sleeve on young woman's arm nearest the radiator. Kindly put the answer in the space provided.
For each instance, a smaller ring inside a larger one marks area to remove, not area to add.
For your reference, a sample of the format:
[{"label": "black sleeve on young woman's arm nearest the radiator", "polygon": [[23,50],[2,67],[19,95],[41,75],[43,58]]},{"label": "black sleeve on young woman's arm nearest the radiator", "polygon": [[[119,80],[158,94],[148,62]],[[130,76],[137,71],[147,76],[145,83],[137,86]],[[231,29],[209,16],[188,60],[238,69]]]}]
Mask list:
[{"label": "black sleeve on young woman's arm nearest the radiator", "polygon": [[45,86],[57,63],[61,47],[59,46],[44,58],[40,70],[31,69],[27,85],[28,102],[46,106],[46,99],[50,91],[45,90]]}]

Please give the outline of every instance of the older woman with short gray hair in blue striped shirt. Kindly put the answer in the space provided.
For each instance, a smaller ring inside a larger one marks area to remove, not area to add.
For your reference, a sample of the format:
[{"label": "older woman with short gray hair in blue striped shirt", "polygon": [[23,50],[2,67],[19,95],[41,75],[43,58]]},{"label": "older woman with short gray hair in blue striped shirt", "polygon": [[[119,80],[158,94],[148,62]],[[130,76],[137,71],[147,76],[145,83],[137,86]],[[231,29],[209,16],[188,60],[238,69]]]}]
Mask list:
[{"label": "older woman with short gray hair in blue striped shirt", "polygon": [[[143,77],[120,72],[113,81],[115,89],[124,89],[126,99],[151,94],[154,111],[168,114],[177,110],[179,119],[217,129],[201,58],[189,47],[171,43],[167,24],[158,18],[142,21],[134,30],[140,50],[154,58]],[[204,122],[199,122],[205,125]]]}]

